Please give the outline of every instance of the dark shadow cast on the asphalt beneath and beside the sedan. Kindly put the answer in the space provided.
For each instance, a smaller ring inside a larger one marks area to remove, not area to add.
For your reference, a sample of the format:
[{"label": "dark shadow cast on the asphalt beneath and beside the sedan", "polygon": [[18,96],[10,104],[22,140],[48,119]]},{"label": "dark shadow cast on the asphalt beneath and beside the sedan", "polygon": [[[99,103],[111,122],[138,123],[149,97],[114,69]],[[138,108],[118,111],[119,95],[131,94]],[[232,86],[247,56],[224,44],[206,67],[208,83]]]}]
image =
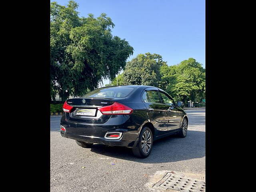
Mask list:
[{"label": "dark shadow cast on the asphalt beneath and beside the sedan", "polygon": [[94,144],[91,151],[108,157],[149,164],[202,158],[205,156],[205,132],[188,130],[186,138],[174,135],[156,140],[150,156],[144,159],[135,157],[130,148],[120,146]]}]

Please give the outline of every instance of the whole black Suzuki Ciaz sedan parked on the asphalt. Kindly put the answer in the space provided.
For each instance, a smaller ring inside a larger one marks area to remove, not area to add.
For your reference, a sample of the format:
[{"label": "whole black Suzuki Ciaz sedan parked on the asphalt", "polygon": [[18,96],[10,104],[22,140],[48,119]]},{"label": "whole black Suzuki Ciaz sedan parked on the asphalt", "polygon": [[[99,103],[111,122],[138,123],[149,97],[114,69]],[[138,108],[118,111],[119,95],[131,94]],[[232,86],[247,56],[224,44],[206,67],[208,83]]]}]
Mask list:
[{"label": "whole black Suzuki Ciaz sedan parked on the asphalt", "polygon": [[125,146],[146,158],[154,140],[184,138],[188,117],[164,90],[152,86],[109,86],[66,100],[60,134],[84,148],[92,144]]}]

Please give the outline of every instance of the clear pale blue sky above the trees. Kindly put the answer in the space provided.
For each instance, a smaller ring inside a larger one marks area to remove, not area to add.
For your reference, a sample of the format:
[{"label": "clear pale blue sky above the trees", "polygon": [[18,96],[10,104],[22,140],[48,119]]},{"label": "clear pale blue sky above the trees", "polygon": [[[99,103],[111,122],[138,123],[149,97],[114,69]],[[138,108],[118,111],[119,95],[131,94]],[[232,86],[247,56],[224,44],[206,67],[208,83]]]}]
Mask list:
[{"label": "clear pale blue sky above the trees", "polygon": [[[68,0],[54,0],[67,5]],[[53,2],[53,0],[51,0]],[[205,0],[76,0],[79,16],[106,13],[115,24],[113,36],[134,48],[127,61],[146,52],[167,64],[190,57],[205,68]],[[104,80],[104,85],[109,80]]]}]

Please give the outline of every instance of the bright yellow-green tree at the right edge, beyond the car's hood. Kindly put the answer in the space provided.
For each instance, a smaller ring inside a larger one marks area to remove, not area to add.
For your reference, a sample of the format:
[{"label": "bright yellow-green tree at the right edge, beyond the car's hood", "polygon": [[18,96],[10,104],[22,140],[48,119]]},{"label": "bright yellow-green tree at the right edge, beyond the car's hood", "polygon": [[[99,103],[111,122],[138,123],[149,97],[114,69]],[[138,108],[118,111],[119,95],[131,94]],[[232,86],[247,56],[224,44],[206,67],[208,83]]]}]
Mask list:
[{"label": "bright yellow-green tree at the right edge, beyond the car's hood", "polygon": [[176,100],[200,101],[205,98],[205,69],[194,58],[174,66],[162,66],[160,88],[166,90]]}]

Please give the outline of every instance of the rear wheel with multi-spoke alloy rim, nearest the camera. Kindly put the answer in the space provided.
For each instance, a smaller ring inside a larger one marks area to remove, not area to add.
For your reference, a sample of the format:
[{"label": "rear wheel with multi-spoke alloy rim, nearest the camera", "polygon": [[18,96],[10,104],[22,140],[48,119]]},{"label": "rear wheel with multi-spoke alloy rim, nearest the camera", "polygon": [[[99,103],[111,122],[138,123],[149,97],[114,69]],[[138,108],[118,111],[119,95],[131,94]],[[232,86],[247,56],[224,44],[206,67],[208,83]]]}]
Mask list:
[{"label": "rear wheel with multi-spoke alloy rim, nearest the camera", "polygon": [[[146,137],[146,140],[145,140]],[[138,145],[136,148],[132,148],[134,156],[139,158],[146,158],[149,156],[153,146],[153,134],[150,128],[142,128],[139,136]],[[148,150],[149,148],[149,150]]]}]

